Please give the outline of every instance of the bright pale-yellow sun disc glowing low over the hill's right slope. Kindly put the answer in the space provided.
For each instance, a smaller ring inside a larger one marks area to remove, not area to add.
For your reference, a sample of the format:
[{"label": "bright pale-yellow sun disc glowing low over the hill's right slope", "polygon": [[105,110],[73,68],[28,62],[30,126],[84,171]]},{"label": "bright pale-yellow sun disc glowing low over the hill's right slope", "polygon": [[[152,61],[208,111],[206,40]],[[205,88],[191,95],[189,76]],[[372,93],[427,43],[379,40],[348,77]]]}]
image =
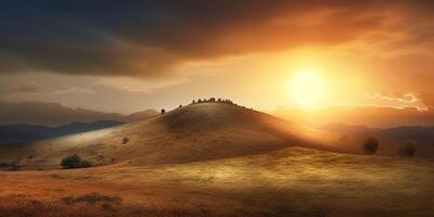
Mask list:
[{"label": "bright pale-yellow sun disc glowing low over the hill's right slope", "polygon": [[297,73],[290,81],[290,93],[294,103],[302,108],[315,108],[324,93],[323,79],[315,72]]}]

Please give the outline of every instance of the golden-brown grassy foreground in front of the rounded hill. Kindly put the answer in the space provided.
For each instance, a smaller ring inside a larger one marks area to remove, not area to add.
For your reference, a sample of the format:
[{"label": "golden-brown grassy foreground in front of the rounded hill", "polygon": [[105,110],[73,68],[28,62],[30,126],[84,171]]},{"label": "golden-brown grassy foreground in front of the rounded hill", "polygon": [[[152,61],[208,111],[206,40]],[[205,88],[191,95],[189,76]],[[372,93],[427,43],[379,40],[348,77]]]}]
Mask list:
[{"label": "golden-brown grassy foreground in front of the rounded hill", "polygon": [[430,216],[434,162],[291,148],[189,164],[0,173],[0,216]]}]

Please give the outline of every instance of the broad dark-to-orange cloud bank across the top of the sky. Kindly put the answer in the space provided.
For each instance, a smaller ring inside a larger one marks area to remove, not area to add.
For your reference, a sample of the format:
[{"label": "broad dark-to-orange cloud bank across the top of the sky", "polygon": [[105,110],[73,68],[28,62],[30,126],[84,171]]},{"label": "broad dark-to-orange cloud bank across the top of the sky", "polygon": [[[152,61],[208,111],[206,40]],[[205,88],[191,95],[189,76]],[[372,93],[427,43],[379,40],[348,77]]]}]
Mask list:
[{"label": "broad dark-to-orange cloud bank across the top of the sky", "polygon": [[7,1],[0,73],[162,77],[187,61],[341,44],[379,33],[411,36],[399,44],[431,41],[423,26],[432,9],[429,1]]}]

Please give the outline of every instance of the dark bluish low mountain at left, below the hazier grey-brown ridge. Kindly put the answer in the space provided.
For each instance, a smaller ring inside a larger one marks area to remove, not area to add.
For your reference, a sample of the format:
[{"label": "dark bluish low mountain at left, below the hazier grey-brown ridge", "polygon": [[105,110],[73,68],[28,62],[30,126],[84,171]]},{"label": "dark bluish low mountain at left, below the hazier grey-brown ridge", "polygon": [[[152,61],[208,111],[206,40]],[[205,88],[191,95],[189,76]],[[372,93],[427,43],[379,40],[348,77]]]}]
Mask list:
[{"label": "dark bluish low mountain at left, below the hazier grey-brown ridge", "polygon": [[99,120],[94,123],[73,123],[58,127],[40,125],[2,125],[0,126],[0,144],[30,142],[78,132],[86,132],[123,125],[122,122]]}]

